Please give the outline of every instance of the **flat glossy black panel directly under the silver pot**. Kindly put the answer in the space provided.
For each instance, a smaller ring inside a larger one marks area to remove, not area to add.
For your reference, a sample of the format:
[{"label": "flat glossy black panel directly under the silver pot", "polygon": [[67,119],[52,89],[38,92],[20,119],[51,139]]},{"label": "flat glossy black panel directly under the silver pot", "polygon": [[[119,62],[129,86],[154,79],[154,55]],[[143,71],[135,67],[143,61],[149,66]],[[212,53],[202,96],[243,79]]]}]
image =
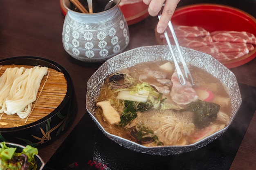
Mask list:
[{"label": "flat glossy black panel directly under the silver pot", "polygon": [[170,156],[134,152],[103,135],[86,113],[45,170],[229,170],[256,110],[256,88],[239,87],[243,102],[234,121],[203,148]]}]

